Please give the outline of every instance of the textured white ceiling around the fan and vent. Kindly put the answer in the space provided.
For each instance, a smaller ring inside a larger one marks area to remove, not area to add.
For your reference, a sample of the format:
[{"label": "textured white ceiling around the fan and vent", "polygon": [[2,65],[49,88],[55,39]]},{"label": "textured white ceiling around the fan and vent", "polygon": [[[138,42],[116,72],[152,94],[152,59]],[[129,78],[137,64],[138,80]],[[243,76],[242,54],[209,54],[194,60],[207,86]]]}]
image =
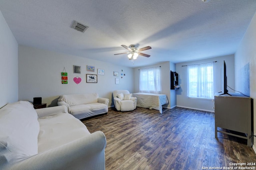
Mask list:
[{"label": "textured white ceiling around the fan and vent", "polygon": [[[137,67],[234,54],[256,0],[0,0],[0,11],[20,45]],[[151,56],[114,55],[132,44]]]}]

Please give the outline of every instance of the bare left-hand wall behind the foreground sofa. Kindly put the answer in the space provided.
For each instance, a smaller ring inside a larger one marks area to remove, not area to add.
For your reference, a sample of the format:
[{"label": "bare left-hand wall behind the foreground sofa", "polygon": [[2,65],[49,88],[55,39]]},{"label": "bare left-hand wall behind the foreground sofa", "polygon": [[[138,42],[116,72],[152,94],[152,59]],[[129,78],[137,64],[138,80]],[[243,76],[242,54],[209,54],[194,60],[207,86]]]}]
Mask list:
[{"label": "bare left-hand wall behind the foreground sofa", "polygon": [[18,43],[0,12],[0,108],[18,100]]}]

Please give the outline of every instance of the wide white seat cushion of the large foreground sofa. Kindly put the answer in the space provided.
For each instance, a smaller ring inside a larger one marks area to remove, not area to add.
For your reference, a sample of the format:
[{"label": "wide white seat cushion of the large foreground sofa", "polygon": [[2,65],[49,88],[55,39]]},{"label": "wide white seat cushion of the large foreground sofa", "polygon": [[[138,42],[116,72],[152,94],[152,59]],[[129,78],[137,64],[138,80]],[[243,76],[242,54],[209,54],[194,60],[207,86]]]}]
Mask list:
[{"label": "wide white seat cushion of the large foreground sofa", "polygon": [[69,113],[41,117],[38,152],[54,149],[90,134],[84,123]]}]

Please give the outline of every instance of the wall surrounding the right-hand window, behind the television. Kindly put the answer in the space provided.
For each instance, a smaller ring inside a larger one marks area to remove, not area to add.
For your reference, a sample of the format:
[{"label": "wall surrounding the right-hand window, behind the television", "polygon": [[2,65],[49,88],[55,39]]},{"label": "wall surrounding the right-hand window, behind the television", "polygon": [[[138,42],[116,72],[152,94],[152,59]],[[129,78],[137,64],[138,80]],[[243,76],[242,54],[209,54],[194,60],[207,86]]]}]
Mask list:
[{"label": "wall surrounding the right-hand window, behind the television", "polygon": [[[190,65],[190,64],[200,64],[200,63],[214,63],[214,91],[220,92],[221,91],[221,68],[223,66],[223,61],[225,61],[227,66],[227,77],[228,77],[228,86],[231,88],[235,88],[235,81],[234,81],[234,55],[227,55],[222,57],[214,57],[210,59],[203,59],[198,61],[191,61],[185,63],[177,63],[176,64],[176,72],[179,74],[179,85],[180,89],[176,90],[176,99],[177,99],[177,106],[179,107],[186,107],[191,109],[199,109],[205,111],[212,111],[214,112],[214,102],[213,100],[203,100],[203,99],[196,99],[196,98],[188,98],[187,96],[187,66],[183,65]],[[228,88],[228,92],[234,92],[230,88]]]}]

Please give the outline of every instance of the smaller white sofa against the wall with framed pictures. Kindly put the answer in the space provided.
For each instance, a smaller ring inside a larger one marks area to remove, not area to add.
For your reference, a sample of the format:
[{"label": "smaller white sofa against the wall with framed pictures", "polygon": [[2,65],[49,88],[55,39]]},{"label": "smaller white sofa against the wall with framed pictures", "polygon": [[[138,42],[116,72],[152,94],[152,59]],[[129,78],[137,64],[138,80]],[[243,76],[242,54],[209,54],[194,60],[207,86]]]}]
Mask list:
[{"label": "smaller white sofa against the wall with framed pictures", "polygon": [[109,99],[99,98],[97,93],[65,94],[58,99],[58,106],[65,105],[68,112],[78,119],[108,113]]}]

